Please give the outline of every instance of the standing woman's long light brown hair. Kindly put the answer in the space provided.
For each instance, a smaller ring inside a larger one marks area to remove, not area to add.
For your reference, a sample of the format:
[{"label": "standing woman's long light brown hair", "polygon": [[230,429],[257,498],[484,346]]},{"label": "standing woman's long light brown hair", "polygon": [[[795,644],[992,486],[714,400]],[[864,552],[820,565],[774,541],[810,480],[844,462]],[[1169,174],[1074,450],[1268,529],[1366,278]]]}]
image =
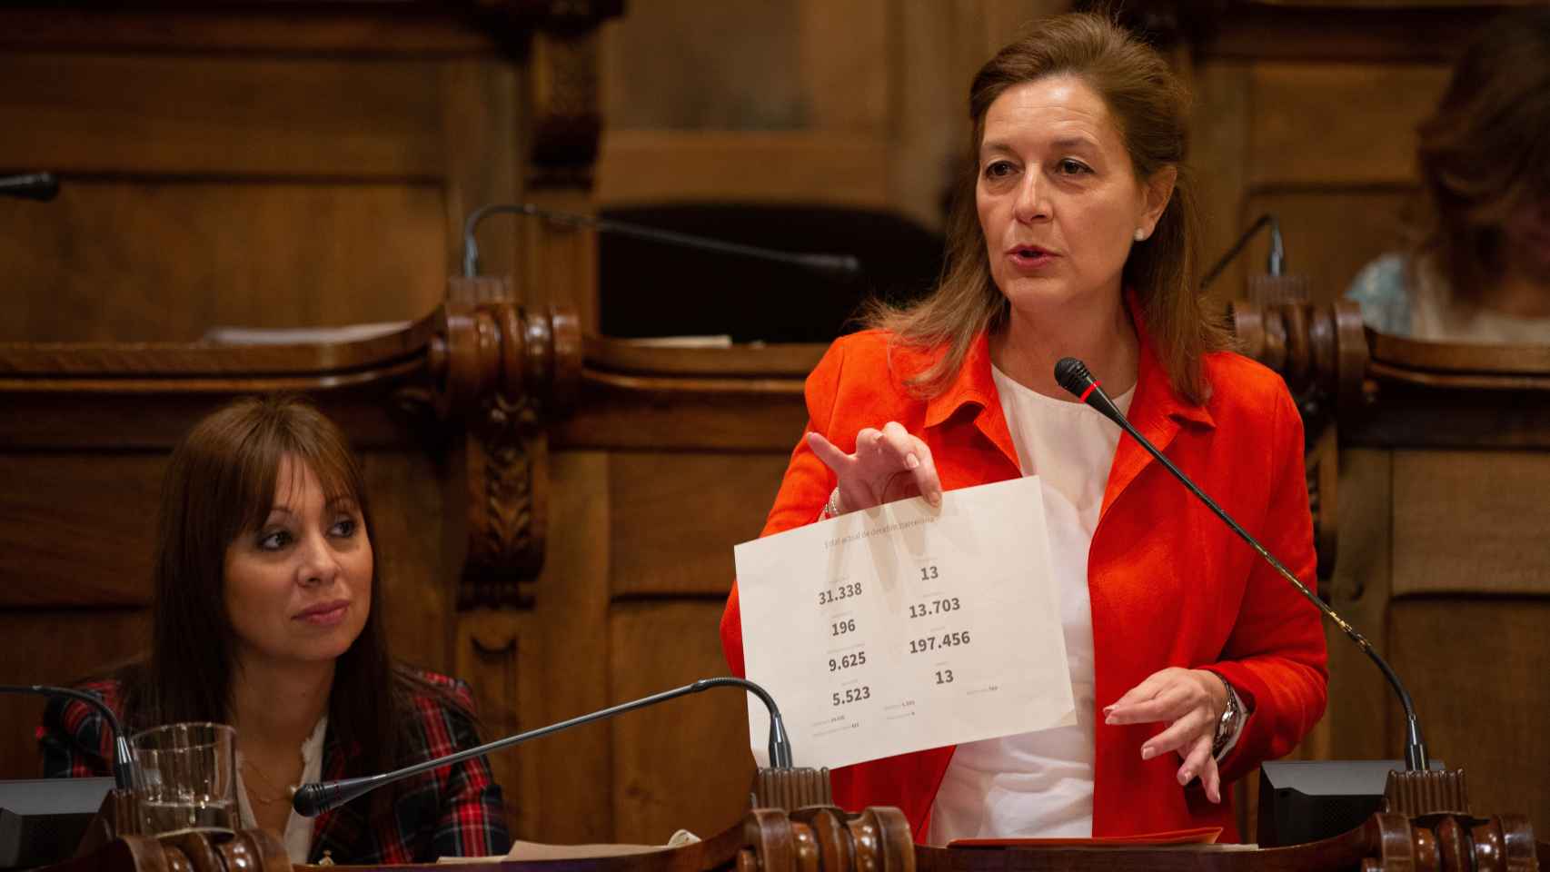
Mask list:
[{"label": "standing woman's long light brown hair", "polygon": [[946,348],[930,369],[908,379],[927,397],[944,390],[958,375],[975,336],[1006,324],[1009,304],[990,279],[975,208],[984,116],[1014,85],[1062,73],[1079,76],[1104,99],[1138,180],[1149,180],[1164,167],[1178,170],[1173,195],[1152,237],[1130,251],[1124,283],[1141,300],[1147,331],[1173,389],[1198,403],[1206,395],[1200,358],[1228,347],[1228,335],[1217,316],[1207,314],[1197,280],[1200,226],[1194,180],[1184,164],[1189,91],[1161,54],[1096,14],[1035,22],[980,68],[969,88],[970,160],[956,183],[936,291],[908,308],[874,302],[862,319],[870,327],[891,330],[907,345]]}]

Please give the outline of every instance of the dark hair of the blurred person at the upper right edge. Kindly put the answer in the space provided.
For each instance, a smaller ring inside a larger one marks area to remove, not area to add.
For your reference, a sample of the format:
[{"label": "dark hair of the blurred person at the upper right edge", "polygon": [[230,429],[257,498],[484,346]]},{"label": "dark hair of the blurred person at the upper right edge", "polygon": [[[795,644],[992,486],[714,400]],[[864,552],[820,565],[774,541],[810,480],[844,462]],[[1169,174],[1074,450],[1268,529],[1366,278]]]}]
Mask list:
[{"label": "dark hair of the blurred person at the upper right edge", "polygon": [[1502,277],[1508,214],[1550,198],[1550,9],[1482,28],[1417,133],[1417,254],[1435,260],[1455,299],[1477,300]]}]

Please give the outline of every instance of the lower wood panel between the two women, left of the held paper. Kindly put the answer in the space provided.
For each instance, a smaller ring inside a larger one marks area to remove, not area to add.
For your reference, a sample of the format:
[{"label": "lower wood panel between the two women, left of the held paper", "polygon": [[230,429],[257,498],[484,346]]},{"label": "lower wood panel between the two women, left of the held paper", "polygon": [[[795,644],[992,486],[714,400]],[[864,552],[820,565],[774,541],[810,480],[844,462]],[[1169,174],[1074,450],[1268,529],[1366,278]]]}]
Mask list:
[{"label": "lower wood panel between the two women, left of the held paper", "polygon": [[[609,613],[609,678],[620,700],[725,675],[721,603],[626,603]],[[674,830],[718,833],[753,784],[747,695],[716,688],[614,720],[614,833],[662,844]]]}]

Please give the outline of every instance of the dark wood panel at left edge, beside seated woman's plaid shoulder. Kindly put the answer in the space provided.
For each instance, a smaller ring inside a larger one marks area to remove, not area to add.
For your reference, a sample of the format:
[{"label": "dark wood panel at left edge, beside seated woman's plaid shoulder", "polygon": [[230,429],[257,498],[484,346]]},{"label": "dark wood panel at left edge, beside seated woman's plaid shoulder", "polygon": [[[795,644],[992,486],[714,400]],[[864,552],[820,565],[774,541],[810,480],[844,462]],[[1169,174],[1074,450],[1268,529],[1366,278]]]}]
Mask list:
[{"label": "dark wood panel at left edge, beside seated woman's plaid shoulder", "polygon": [[[0,612],[0,683],[70,685],[143,652],[146,609]],[[0,695],[0,779],[39,778],[42,697]]]}]

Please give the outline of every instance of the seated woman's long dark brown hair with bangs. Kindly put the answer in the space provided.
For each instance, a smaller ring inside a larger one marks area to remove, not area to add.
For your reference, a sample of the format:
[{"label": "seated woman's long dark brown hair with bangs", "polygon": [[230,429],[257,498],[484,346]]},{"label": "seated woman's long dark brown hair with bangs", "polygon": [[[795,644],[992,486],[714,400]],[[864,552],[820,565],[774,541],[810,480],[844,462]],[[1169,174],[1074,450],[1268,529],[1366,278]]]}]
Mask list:
[{"label": "seated woman's long dark brown hair with bangs", "polygon": [[284,457],[312,469],[327,497],[353,500],[364,520],[372,606],[361,635],[335,664],[329,730],[352,751],[350,774],[386,771],[397,762],[398,730],[408,722],[395,712],[420,681],[394,668],[388,654],[386,603],[360,463],[344,434],[293,397],[237,400],[198,421],[172,452],[152,564],[152,651],[126,672],[130,728],[229,719],[236,661],[225,554],[237,536],[264,524]]}]

